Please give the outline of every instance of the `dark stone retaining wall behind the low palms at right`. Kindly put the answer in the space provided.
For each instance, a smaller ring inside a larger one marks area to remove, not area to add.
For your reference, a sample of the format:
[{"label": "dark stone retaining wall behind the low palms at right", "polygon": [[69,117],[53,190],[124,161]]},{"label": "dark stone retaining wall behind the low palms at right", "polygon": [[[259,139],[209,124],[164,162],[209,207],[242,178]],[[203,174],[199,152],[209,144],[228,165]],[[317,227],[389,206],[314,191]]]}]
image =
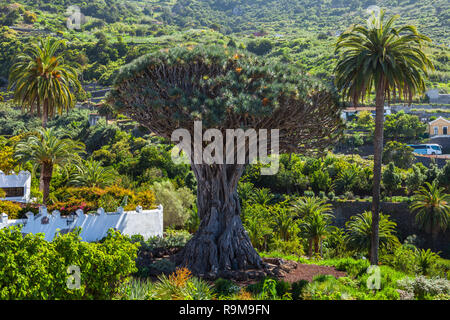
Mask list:
[{"label": "dark stone retaining wall behind the low palms at right", "polygon": [[[332,202],[334,208],[335,219],[333,225],[344,227],[345,223],[350,220],[351,216],[371,210],[371,202]],[[390,216],[392,221],[397,223],[397,237],[401,242],[412,234],[416,234],[420,239],[423,239],[423,247],[431,248],[433,251],[441,251],[441,256],[450,258],[450,230],[447,229],[445,233],[440,233],[438,238],[433,241],[431,236],[417,228],[415,223],[415,213],[409,210],[409,204],[405,202],[393,203],[383,202],[381,204],[381,211],[383,214]]]}]

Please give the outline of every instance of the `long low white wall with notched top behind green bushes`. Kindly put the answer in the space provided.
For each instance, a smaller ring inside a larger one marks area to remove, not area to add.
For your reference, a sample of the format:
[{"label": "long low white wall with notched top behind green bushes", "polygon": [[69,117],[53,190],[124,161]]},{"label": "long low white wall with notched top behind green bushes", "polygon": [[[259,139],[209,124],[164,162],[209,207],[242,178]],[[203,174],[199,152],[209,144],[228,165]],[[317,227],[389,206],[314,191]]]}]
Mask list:
[{"label": "long low white wall with notched top behind green bushes", "polygon": [[106,213],[102,208],[96,214],[84,214],[77,210],[76,214],[61,217],[59,211],[48,214],[47,208],[40,207],[39,214],[27,213],[27,219],[9,220],[6,214],[0,215],[0,229],[12,225],[24,225],[22,233],[44,233],[47,241],[53,240],[55,233],[67,233],[76,227],[81,227],[80,237],[83,241],[92,242],[107,235],[108,229],[119,230],[123,234],[140,234],[144,239],[152,236],[163,236],[163,207],[155,210],[123,211]]}]

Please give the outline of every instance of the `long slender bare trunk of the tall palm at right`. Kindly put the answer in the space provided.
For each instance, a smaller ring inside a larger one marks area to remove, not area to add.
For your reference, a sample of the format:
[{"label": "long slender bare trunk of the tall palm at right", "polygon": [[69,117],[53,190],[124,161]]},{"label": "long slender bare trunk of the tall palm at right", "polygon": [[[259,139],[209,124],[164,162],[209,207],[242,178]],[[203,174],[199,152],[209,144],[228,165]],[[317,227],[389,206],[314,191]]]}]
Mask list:
[{"label": "long slender bare trunk of the tall palm at right", "polygon": [[381,157],[383,153],[383,124],[384,124],[384,100],[385,80],[381,77],[376,89],[376,115],[373,158],[373,193],[372,193],[372,235],[370,245],[370,263],[378,264],[379,246],[379,221],[380,221],[380,185],[381,185]]}]

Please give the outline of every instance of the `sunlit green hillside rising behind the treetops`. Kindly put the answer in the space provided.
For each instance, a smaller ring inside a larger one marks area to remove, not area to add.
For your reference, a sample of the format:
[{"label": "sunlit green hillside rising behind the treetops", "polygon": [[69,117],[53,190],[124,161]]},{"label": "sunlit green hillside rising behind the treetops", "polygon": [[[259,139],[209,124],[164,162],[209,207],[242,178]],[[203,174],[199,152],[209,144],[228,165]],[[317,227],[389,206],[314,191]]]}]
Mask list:
[{"label": "sunlit green hillside rising behind the treetops", "polygon": [[[399,14],[399,23],[414,24],[433,40],[428,53],[436,72],[428,86],[450,92],[446,0],[1,1],[0,85],[14,53],[47,33],[70,41],[67,59],[81,66],[84,82],[109,85],[121,65],[146,52],[206,42],[246,47],[329,79],[337,35],[352,23],[365,23],[371,5]],[[66,27],[69,6],[85,15],[81,30]]]}]

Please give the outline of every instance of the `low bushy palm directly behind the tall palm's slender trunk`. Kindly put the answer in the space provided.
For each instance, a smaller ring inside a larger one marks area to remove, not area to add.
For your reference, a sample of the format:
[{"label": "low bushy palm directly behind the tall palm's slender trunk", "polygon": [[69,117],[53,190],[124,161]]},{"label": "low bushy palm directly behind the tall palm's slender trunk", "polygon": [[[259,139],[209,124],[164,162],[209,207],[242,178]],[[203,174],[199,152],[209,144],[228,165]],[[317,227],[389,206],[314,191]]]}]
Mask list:
[{"label": "low bushy palm directly behind the tall palm's slender trunk", "polygon": [[[395,236],[395,227],[397,224],[390,221],[389,218],[380,214],[379,239],[382,248],[391,248],[399,241]],[[364,211],[362,214],[352,216],[345,224],[347,229],[346,241],[350,248],[357,251],[367,252],[370,261],[372,260],[372,214],[370,211]]]}]

